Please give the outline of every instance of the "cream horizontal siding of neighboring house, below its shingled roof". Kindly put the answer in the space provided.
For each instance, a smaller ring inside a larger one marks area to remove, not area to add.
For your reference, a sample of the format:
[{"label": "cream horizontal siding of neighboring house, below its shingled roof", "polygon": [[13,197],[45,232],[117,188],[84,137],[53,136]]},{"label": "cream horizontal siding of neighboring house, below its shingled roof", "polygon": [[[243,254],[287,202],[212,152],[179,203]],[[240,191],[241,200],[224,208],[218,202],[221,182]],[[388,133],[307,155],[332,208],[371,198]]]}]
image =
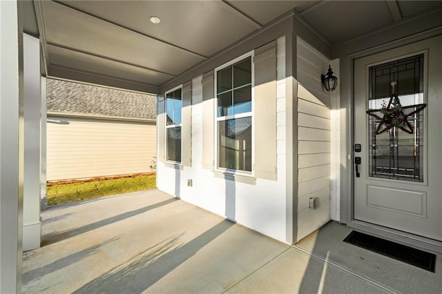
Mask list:
[{"label": "cream horizontal siding of neighboring house, below its shingled roof", "polygon": [[151,171],[155,124],[48,117],[48,181]]}]

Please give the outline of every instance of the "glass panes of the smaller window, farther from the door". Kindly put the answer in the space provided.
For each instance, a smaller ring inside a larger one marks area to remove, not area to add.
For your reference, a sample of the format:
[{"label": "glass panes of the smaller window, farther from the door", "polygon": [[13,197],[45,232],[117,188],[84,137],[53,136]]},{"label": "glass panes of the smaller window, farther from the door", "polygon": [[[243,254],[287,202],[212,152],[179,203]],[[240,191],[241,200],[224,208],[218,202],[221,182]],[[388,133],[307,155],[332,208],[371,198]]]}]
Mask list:
[{"label": "glass panes of the smaller window, farther from the door", "polygon": [[166,93],[166,160],[181,162],[181,88]]}]

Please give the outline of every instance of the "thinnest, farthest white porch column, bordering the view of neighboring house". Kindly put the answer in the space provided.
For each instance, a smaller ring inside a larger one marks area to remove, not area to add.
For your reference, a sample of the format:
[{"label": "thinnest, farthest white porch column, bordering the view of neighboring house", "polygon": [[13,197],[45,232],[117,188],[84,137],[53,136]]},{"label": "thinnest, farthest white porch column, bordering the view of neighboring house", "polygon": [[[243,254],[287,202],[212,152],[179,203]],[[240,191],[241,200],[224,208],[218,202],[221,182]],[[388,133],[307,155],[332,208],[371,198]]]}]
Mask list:
[{"label": "thinnest, farthest white porch column, bordering the view of neighboring house", "polygon": [[41,77],[41,127],[40,127],[40,208],[48,209],[48,197],[46,195],[46,130],[47,130],[47,111],[46,111],[46,77]]}]

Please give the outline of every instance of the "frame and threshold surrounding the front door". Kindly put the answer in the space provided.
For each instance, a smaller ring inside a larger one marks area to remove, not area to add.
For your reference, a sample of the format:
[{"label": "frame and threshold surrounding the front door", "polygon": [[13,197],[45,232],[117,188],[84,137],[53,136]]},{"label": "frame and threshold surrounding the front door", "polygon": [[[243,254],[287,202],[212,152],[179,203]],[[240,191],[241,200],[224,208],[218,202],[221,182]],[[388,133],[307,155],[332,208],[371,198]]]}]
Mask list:
[{"label": "frame and threshold surrounding the front door", "polygon": [[[347,226],[358,231],[377,235],[385,239],[390,239],[394,242],[407,244],[414,247],[423,248],[425,250],[442,253],[442,242],[403,231],[394,230],[392,228],[385,228],[376,224],[369,224],[357,219],[354,219],[354,61],[362,57],[374,55],[379,52],[406,46],[411,43],[430,39],[442,35],[442,28],[438,30],[431,30],[430,32],[423,32],[412,35],[400,40],[396,40],[382,46],[376,46],[355,52],[352,55],[342,58],[340,61],[340,72],[346,72],[346,75],[340,77],[340,105],[345,106],[345,113],[341,115],[341,130],[340,137],[343,144],[341,145],[341,197],[340,197],[340,222],[347,224]],[[341,110],[342,111],[342,110]]]}]

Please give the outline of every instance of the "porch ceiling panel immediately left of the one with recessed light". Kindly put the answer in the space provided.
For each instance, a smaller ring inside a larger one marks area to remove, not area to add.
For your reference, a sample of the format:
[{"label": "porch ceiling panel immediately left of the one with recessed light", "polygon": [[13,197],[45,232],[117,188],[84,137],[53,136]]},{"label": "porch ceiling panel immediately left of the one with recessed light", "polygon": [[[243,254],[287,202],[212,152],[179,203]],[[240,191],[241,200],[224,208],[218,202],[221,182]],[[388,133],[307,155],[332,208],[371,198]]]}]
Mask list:
[{"label": "porch ceiling panel immediately left of the one with recessed light", "polygon": [[186,68],[204,60],[204,57],[55,2],[45,1],[44,11],[46,41],[54,46],[170,75],[178,75]]}]

